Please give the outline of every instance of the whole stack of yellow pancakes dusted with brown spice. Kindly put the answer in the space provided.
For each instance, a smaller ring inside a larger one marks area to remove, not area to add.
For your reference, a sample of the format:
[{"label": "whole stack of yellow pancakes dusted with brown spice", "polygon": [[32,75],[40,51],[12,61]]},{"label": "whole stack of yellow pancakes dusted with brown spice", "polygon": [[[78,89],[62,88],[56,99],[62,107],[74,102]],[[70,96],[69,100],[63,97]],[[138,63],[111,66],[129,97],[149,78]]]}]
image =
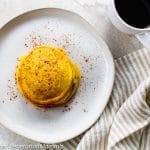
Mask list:
[{"label": "whole stack of yellow pancakes dusted with brown spice", "polygon": [[21,94],[39,107],[56,107],[67,103],[76,93],[80,71],[65,50],[39,46],[21,57],[16,70]]}]

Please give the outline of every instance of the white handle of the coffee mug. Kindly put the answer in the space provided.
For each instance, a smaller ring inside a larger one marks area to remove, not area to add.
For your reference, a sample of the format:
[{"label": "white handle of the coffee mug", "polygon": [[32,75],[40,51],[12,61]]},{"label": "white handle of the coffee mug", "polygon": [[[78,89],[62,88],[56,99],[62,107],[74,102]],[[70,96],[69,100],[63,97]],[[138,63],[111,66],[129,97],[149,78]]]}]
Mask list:
[{"label": "white handle of the coffee mug", "polygon": [[150,32],[138,33],[135,36],[144,45],[144,47],[150,48]]}]

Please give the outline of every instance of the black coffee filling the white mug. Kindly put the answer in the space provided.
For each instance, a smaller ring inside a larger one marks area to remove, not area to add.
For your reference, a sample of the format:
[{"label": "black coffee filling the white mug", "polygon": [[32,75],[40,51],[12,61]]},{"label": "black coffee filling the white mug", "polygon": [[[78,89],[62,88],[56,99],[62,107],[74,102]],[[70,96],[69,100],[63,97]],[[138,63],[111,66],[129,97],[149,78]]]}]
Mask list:
[{"label": "black coffee filling the white mug", "polygon": [[150,0],[115,0],[115,5],[127,24],[136,28],[150,25]]}]

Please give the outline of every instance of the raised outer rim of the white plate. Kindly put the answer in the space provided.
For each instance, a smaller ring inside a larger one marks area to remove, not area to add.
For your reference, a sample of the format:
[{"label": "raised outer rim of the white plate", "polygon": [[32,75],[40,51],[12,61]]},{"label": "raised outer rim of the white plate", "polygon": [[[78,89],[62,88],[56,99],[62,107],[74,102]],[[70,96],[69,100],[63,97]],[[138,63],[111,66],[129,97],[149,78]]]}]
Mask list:
[{"label": "raised outer rim of the white plate", "polygon": [[[83,132],[85,132],[86,130],[88,130],[96,121],[97,119],[100,117],[100,115],[102,114],[105,106],[107,105],[108,101],[109,101],[109,97],[110,97],[110,94],[112,92],[112,88],[113,88],[113,84],[114,84],[114,79],[115,79],[115,64],[114,64],[114,60],[113,60],[113,56],[112,56],[112,53],[111,51],[109,50],[107,44],[105,43],[105,41],[101,38],[101,36],[99,36],[96,32],[96,30],[94,29],[94,27],[85,19],[83,18],[80,14],[74,12],[74,11],[70,11],[68,9],[62,9],[62,8],[58,8],[58,7],[44,7],[44,8],[35,8],[35,9],[32,9],[32,10],[27,10],[23,13],[20,13],[19,15],[16,15],[14,17],[12,17],[11,19],[9,19],[6,23],[4,23],[1,27],[0,27],[0,30],[2,30],[7,24],[13,22],[15,19],[17,19],[18,17],[21,17],[23,15],[27,15],[28,13],[32,13],[34,11],[40,11],[40,10],[44,10],[44,9],[55,9],[55,10],[60,10],[60,11],[64,11],[64,12],[67,12],[67,13],[70,13],[70,14],[73,14],[75,16],[77,16],[78,18],[80,18],[80,20],[82,20],[91,30],[92,32],[94,33],[94,35],[96,36],[96,39],[98,39],[100,42],[101,42],[101,45],[103,45],[102,47],[105,47],[105,55],[107,55],[107,71],[109,70],[109,74],[111,72],[111,76],[108,78],[107,80],[107,84],[109,84],[109,88],[107,88],[107,91],[105,92],[105,94],[103,95],[103,99],[104,99],[104,102],[103,102],[103,108],[101,109],[101,111],[99,111],[99,113],[97,113],[96,117],[90,121],[89,125],[81,132],[79,133],[76,133],[70,137],[65,137],[64,136],[64,139],[62,140],[57,140],[57,141],[52,141],[51,139],[47,139],[47,140],[39,140],[39,138],[35,138],[34,136],[29,136],[28,134],[26,134],[24,131],[22,130],[18,130],[16,128],[13,127],[13,125],[10,125],[3,117],[0,117],[0,124],[4,127],[6,127],[7,129],[11,130],[12,132],[18,134],[18,135],[21,135],[27,139],[30,139],[30,140],[33,140],[33,141],[36,141],[36,142],[42,142],[42,143],[46,143],[46,144],[56,144],[56,143],[61,143],[61,142],[65,142],[65,141],[68,141],[70,139],[73,139],[79,135],[81,135]],[[108,73],[107,73],[108,74]],[[2,119],[3,118],[3,119]]]}]

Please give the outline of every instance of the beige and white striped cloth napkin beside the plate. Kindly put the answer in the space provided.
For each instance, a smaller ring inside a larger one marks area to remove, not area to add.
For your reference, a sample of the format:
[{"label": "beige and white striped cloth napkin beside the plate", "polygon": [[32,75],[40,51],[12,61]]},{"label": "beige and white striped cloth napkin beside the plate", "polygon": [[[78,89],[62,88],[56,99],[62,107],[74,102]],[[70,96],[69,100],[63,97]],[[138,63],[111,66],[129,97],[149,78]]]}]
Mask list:
[{"label": "beige and white striped cloth napkin beside the plate", "polygon": [[103,114],[83,136],[65,142],[66,149],[150,150],[150,50],[119,58],[115,67]]}]

